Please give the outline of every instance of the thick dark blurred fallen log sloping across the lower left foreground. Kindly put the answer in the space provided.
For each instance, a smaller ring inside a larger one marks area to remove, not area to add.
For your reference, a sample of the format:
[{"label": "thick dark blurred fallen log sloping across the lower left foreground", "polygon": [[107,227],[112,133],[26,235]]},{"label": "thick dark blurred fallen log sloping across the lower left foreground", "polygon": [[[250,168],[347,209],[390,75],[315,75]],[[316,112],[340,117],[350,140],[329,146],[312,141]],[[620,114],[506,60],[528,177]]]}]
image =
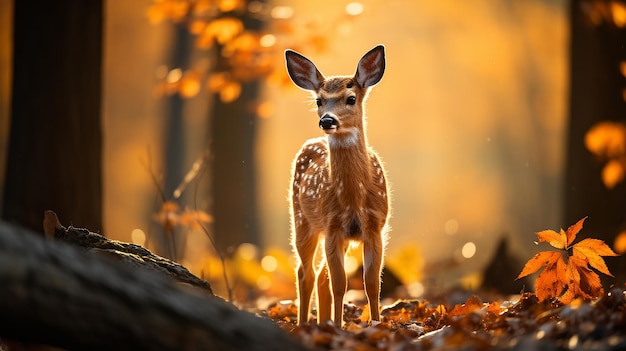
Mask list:
[{"label": "thick dark blurred fallen log sloping across the lower left foreground", "polygon": [[0,337],[77,350],[304,350],[273,322],[0,222]]}]

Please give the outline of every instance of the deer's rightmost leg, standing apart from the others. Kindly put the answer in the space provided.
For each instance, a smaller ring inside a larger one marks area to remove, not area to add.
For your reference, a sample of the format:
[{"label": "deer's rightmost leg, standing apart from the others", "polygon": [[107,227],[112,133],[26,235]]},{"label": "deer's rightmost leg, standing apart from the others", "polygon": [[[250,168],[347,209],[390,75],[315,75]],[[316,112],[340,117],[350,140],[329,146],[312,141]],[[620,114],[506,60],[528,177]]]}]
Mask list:
[{"label": "deer's rightmost leg, standing apart from the others", "polygon": [[370,319],[380,320],[380,275],[383,264],[383,240],[380,232],[363,240],[363,283],[370,306]]}]

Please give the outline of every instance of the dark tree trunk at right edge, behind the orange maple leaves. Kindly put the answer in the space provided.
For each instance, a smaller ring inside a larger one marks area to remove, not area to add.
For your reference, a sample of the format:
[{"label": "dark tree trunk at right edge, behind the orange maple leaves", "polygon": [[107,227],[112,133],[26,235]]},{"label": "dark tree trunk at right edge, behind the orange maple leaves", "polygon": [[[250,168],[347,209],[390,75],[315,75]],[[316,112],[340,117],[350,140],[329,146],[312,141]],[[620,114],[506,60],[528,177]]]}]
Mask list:
[{"label": "dark tree trunk at right edge, behind the orange maple leaves", "polygon": [[[589,1],[570,3],[570,123],[564,189],[564,226],[589,216],[583,234],[612,245],[626,224],[626,183],[607,189],[602,183],[603,164],[585,148],[584,137],[597,122],[626,116],[624,77],[626,31],[608,19],[592,24]],[[585,234],[586,233],[586,234]],[[616,281],[626,279],[626,257],[607,258]]]}]

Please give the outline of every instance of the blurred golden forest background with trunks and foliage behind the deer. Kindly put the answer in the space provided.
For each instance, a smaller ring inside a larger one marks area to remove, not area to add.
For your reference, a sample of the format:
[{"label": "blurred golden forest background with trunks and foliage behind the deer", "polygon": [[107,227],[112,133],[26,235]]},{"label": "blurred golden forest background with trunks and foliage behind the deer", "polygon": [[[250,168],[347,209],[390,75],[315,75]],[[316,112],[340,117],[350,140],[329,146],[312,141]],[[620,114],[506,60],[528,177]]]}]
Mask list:
[{"label": "blurred golden forest background with trunks and foliage behind the deer", "polygon": [[624,252],[622,1],[0,0],[0,26],[5,221],[40,231],[51,209],[221,295],[225,260],[238,299],[293,298],[291,160],[321,132],[283,52],[352,74],[381,43],[367,132],[406,294],[512,287],[536,231],[584,216]]}]

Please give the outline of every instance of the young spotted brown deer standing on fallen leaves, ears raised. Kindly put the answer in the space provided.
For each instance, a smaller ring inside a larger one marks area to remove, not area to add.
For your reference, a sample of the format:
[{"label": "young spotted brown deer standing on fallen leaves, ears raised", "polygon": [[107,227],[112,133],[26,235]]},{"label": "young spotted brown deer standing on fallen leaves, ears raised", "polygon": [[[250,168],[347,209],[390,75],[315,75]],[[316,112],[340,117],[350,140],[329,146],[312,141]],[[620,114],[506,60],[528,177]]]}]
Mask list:
[{"label": "young spotted brown deer standing on fallen leaves, ears raised", "polygon": [[298,323],[308,320],[314,256],[321,242],[317,321],[332,317],[342,325],[347,285],[343,264],[351,241],[363,243],[363,281],[370,320],[377,321],[389,205],[385,172],[365,137],[364,103],[369,88],[385,71],[385,49],[379,45],[366,53],[352,77],[326,78],[313,62],[291,50],[285,58],[291,80],[313,92],[319,127],[327,134],[305,142],[293,163],[290,198],[292,243],[300,259]]}]

